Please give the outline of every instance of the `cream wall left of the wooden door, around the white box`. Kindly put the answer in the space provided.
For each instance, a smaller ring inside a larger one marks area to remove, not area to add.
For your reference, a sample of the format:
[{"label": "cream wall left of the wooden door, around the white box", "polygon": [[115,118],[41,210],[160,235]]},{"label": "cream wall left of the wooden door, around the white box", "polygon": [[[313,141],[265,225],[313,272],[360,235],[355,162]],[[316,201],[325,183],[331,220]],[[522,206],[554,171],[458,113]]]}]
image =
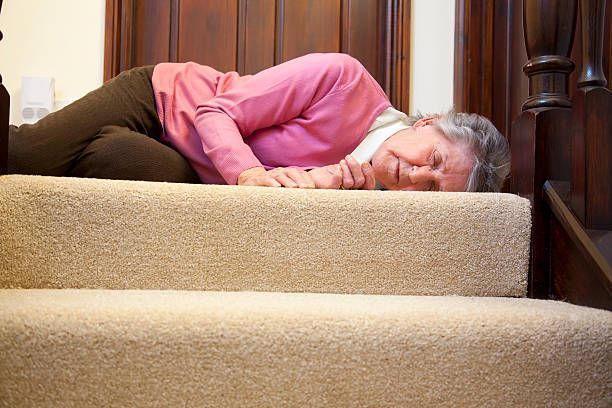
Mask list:
[{"label": "cream wall left of the wooden door, around the white box", "polygon": [[105,0],[8,0],[2,6],[0,73],[20,123],[21,76],[55,78],[58,106],[102,83]]}]

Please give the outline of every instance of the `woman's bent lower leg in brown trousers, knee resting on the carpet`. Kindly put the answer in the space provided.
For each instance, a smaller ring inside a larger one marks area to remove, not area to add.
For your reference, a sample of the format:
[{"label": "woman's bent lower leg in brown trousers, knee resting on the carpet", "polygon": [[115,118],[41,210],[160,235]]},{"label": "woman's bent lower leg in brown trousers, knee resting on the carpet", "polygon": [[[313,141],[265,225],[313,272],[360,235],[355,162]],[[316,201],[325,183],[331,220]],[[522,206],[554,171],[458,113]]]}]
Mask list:
[{"label": "woman's bent lower leg in brown trousers, knee resting on the carpet", "polygon": [[199,183],[197,174],[176,150],[125,127],[105,126],[67,174],[115,180]]}]

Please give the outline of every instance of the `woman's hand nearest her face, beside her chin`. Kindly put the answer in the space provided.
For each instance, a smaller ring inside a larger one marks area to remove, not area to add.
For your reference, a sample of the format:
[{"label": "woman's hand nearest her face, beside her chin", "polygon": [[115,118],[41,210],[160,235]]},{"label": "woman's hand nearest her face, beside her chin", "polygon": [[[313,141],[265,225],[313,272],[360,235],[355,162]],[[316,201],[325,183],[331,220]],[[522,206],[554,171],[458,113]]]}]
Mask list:
[{"label": "woman's hand nearest her face, beside her chin", "polygon": [[359,164],[353,156],[346,156],[338,164],[312,169],[309,173],[317,188],[373,190],[376,187],[372,165]]}]

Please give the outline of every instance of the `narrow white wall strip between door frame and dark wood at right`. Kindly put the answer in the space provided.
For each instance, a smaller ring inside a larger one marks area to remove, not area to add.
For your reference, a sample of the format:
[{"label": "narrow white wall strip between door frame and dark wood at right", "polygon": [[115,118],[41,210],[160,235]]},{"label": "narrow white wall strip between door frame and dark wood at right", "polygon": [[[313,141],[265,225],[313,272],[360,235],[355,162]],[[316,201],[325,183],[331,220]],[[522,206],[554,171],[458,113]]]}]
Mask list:
[{"label": "narrow white wall strip between door frame and dark wood at right", "polygon": [[455,0],[412,0],[410,113],[453,105]]}]

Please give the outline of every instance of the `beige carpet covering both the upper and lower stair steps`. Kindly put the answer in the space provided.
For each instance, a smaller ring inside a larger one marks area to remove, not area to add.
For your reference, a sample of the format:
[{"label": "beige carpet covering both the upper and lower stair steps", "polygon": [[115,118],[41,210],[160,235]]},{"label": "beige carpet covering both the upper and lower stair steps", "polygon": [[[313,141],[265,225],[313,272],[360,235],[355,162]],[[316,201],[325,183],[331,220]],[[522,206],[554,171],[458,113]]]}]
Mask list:
[{"label": "beige carpet covering both the upper and lower stair steps", "polygon": [[610,406],[612,313],[497,297],[529,233],[507,194],[3,176],[0,406]]}]

